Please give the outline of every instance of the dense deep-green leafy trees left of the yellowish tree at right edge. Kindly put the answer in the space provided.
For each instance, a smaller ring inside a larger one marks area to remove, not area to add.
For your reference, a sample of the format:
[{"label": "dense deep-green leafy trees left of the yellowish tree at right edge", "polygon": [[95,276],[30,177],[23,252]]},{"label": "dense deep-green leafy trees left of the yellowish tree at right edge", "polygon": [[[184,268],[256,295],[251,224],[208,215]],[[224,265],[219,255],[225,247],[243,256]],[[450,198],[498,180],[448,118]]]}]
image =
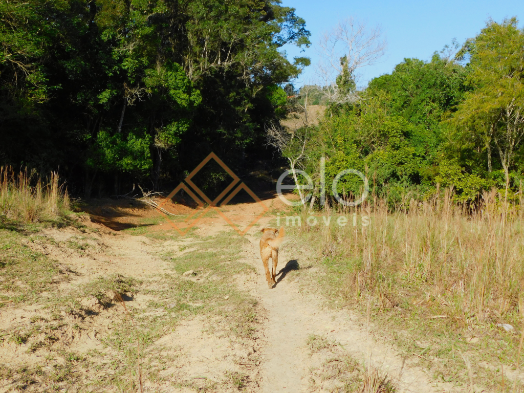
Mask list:
[{"label": "dense deep-green leafy trees left of the yellowish tree at right edge", "polygon": [[[391,203],[409,192],[432,192],[436,177],[451,168],[442,159],[441,117],[461,102],[467,75],[466,68],[441,54],[435,52],[429,62],[405,59],[391,74],[373,79],[366,90],[356,92],[358,99],[351,105],[332,108],[314,143],[306,148],[308,160],[303,165],[308,173],[315,173],[315,161],[325,156],[327,182],[352,168],[372,177],[375,192]],[[337,80],[347,91],[354,89],[352,82],[344,70]],[[476,181],[476,175],[463,173],[463,168],[459,172],[456,187],[464,188],[457,191],[469,200],[484,183]],[[347,176],[339,187],[341,193],[356,195],[362,180]]]}]

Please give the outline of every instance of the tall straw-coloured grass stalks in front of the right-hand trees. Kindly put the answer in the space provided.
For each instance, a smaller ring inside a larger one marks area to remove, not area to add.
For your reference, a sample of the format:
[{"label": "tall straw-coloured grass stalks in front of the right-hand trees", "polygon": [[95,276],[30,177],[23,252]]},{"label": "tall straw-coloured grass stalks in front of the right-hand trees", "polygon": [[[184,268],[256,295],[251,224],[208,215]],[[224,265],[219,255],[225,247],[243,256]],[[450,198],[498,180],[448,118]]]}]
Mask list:
[{"label": "tall straw-coloured grass stalks in front of the right-hand trees", "polygon": [[[339,208],[328,226],[322,220],[308,226],[311,213],[304,211],[301,229],[320,243],[333,296],[372,297],[384,309],[425,305],[428,316],[439,313],[462,325],[518,321],[524,319],[524,209],[522,201],[503,199],[484,192],[472,210],[446,190],[429,201],[405,201],[394,212],[374,199],[354,210]],[[346,226],[337,225],[340,214]],[[361,224],[363,215],[370,225]]]}]

